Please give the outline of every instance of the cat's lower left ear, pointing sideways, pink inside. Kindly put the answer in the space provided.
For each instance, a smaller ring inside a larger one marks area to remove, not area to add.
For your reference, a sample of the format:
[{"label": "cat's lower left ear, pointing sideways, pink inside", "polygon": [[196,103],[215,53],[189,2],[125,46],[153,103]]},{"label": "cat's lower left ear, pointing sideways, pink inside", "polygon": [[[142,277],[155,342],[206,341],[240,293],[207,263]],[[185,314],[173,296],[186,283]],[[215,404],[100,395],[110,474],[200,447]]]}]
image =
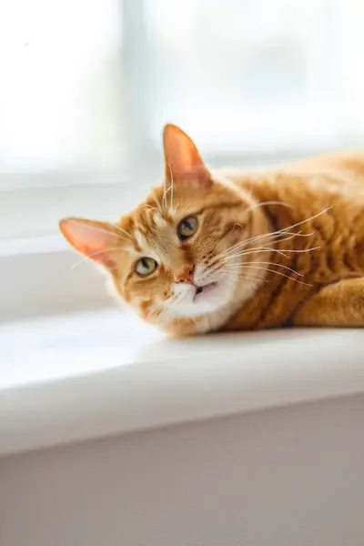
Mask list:
[{"label": "cat's lower left ear, pointing sideways, pink inside", "polygon": [[121,237],[111,224],[83,218],[64,218],[59,222],[59,229],[70,245],[86,258],[106,268],[115,266],[115,250],[120,246]]}]

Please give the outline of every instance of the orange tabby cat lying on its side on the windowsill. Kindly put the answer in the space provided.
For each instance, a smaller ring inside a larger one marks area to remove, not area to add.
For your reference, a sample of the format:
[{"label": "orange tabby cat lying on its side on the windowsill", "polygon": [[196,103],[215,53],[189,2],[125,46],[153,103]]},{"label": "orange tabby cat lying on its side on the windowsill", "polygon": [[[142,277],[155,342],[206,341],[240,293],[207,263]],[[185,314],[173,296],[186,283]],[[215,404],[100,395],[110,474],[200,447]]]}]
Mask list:
[{"label": "orange tabby cat lying on its side on the windowsill", "polygon": [[364,153],[211,174],[177,126],[166,176],[116,224],[66,218],[71,245],[174,335],[364,326]]}]

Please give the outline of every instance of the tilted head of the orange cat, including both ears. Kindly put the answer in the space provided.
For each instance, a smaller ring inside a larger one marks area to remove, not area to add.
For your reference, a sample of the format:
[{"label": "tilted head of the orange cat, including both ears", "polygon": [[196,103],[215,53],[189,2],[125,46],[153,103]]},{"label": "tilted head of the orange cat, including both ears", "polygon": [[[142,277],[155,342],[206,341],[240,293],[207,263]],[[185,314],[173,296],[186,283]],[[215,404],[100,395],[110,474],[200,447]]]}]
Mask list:
[{"label": "tilted head of the orange cat, including both ears", "polygon": [[246,191],[211,175],[181,129],[167,125],[163,140],[165,180],[135,210],[116,224],[65,218],[60,229],[144,319],[177,334],[217,329],[258,287],[257,270],[240,266],[264,218]]}]

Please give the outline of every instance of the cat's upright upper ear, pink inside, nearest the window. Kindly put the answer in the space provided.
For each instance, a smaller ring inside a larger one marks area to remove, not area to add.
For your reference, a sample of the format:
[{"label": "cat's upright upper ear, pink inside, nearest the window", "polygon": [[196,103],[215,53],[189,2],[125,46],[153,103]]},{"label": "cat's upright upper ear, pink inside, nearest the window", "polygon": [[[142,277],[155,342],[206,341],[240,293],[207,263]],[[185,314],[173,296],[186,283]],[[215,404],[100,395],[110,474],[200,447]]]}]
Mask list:
[{"label": "cat's upright upper ear, pink inside, nearest the window", "polygon": [[211,175],[201,159],[197,147],[179,127],[167,124],[163,131],[166,180],[174,183],[188,181],[196,186],[209,187]]}]

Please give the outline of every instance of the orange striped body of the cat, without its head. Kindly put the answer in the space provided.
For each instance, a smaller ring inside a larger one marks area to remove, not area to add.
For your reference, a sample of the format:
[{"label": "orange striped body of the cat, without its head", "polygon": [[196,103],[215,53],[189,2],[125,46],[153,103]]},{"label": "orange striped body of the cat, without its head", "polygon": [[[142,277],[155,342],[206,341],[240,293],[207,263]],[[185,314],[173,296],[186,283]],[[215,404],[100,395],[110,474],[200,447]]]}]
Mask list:
[{"label": "orange striped body of the cat, without its head", "polygon": [[[268,259],[298,271],[303,277],[293,277],[311,286],[268,272],[268,282],[227,321],[225,328],[364,325],[364,151],[315,157],[254,176],[227,176],[247,188],[259,203],[281,203],[264,206],[273,231],[303,222],[298,227],[299,236],[275,245],[288,257],[273,252]],[[305,221],[328,207],[322,215]],[[308,248],[316,249],[299,252]],[[339,302],[334,294],[339,288],[336,283],[353,278],[360,280],[341,283],[343,299],[348,291],[352,293],[353,286],[358,286],[358,301],[350,306],[348,301]],[[324,287],[328,288],[322,290]],[[327,305],[322,308],[325,300]]]}]

